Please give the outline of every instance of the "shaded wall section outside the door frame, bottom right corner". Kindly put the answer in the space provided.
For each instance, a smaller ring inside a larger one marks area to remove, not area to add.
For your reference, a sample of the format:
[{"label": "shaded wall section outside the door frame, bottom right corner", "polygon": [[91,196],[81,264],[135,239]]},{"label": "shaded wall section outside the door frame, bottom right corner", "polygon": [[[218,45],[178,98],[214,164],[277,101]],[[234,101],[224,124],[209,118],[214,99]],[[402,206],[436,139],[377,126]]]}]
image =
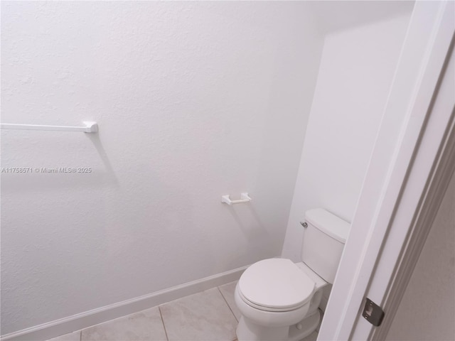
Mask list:
[{"label": "shaded wall section outside the door frame, bottom right corner", "polygon": [[455,175],[446,190],[387,340],[455,340]]}]

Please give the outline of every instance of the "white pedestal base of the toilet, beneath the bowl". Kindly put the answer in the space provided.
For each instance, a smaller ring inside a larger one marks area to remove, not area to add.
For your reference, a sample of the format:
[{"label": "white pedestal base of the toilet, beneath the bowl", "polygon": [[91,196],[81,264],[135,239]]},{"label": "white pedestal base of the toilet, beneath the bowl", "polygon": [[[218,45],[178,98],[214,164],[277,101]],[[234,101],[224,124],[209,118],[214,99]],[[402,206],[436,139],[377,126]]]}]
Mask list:
[{"label": "white pedestal base of the toilet, beneath the bowl", "polygon": [[[237,325],[237,339],[238,341],[300,341],[316,330],[320,320],[321,314],[316,310],[296,325],[269,328],[256,325],[242,316]],[[298,329],[297,326],[300,327],[300,325],[301,328]]]}]

